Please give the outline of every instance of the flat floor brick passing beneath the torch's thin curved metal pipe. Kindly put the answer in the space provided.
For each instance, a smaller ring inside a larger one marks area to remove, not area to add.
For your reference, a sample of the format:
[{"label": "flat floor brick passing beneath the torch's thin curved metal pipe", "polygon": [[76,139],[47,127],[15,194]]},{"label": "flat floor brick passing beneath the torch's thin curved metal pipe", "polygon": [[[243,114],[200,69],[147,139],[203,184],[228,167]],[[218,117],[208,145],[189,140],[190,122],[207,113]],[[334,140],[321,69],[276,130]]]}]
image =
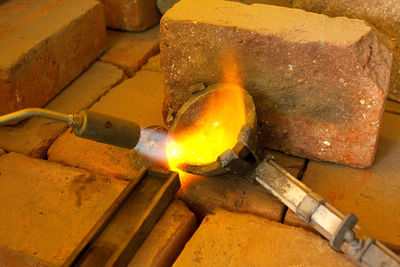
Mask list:
[{"label": "flat floor brick passing beneath the torch's thin curved metal pipe", "polygon": [[[111,64],[96,62],[45,108],[64,113],[76,113],[88,108],[118,84],[123,75],[121,69]],[[32,118],[18,125],[0,127],[0,147],[7,151],[45,158],[50,145],[67,128],[64,123],[43,118]]]}]

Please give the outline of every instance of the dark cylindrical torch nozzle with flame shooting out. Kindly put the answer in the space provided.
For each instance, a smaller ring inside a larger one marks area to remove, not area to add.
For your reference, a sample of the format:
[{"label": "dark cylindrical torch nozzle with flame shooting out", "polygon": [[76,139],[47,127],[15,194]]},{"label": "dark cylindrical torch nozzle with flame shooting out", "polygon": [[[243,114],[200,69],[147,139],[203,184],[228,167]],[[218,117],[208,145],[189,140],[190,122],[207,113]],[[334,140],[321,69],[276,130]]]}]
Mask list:
[{"label": "dark cylindrical torch nozzle with flame shooting out", "polygon": [[74,129],[76,136],[128,149],[139,142],[140,126],[137,123],[91,110],[83,110],[79,116],[82,121],[80,127]]}]

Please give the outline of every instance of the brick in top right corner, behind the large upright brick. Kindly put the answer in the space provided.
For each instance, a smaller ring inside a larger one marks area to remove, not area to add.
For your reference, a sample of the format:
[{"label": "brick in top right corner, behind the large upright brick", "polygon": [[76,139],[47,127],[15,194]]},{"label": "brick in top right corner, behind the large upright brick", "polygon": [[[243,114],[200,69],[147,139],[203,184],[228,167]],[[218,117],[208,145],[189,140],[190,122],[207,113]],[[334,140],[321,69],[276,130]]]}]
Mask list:
[{"label": "brick in top right corner, behind the large upright brick", "polygon": [[[389,98],[400,102],[400,2],[397,0],[294,0],[293,7],[366,20],[393,42]],[[373,7],[373,8],[371,8]]]}]

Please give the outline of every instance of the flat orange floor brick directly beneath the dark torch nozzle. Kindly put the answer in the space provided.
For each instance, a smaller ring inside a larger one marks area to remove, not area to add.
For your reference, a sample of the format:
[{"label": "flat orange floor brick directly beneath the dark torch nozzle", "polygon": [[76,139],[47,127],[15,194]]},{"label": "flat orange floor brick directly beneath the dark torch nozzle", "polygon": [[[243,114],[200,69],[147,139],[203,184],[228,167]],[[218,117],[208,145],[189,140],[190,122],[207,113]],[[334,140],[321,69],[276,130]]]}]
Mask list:
[{"label": "flat orange floor brick directly beneath the dark torch nozzle", "polygon": [[[163,90],[161,73],[139,71],[111,89],[91,109],[137,122],[141,127],[164,125]],[[121,179],[132,179],[142,166],[150,164],[133,151],[85,140],[69,131],[53,143],[48,158]]]}]

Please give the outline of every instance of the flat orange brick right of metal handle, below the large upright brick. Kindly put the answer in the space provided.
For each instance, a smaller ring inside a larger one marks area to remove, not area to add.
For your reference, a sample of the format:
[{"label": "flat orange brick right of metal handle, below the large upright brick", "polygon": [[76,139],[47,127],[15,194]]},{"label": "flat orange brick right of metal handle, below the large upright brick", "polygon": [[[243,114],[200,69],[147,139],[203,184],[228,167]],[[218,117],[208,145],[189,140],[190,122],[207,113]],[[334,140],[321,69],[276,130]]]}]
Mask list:
[{"label": "flat orange brick right of metal handle, below the large upright brick", "polygon": [[[373,238],[400,252],[400,116],[384,114],[376,160],[367,170],[311,161],[302,181]],[[300,222],[288,212],[287,223]]]}]

